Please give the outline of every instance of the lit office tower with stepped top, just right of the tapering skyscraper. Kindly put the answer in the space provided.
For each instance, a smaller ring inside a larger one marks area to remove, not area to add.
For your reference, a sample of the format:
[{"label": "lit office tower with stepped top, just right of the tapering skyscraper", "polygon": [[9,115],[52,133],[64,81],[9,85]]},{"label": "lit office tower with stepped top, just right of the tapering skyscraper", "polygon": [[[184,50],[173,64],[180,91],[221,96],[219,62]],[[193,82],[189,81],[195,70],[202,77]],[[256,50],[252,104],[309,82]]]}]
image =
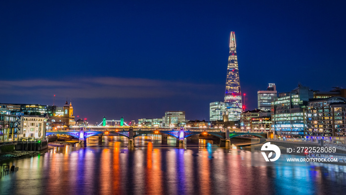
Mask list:
[{"label": "lit office tower with stepped top, just right of the tapering skyscraper", "polygon": [[262,111],[271,110],[271,102],[277,98],[277,91],[275,83],[269,83],[266,91],[257,92],[257,108]]}]

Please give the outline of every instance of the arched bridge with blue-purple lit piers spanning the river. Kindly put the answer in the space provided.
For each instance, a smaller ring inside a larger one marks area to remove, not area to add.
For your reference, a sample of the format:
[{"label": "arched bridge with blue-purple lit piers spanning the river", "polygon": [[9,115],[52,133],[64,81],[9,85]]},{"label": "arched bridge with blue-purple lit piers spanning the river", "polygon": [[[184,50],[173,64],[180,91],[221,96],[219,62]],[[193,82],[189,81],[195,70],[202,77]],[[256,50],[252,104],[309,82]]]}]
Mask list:
[{"label": "arched bridge with blue-purple lit piers spanning the river", "polygon": [[[96,128],[99,127],[99,128]],[[179,129],[167,129],[167,128],[150,128],[150,127],[121,127],[118,128],[107,128],[105,126],[94,126],[91,128],[89,126],[89,130],[85,127],[80,127],[79,129],[75,128],[69,131],[47,131],[46,136],[53,134],[63,134],[70,135],[75,138],[78,138],[81,146],[87,146],[87,138],[91,136],[98,136],[98,142],[102,143],[102,136],[123,136],[129,139],[128,146],[134,146],[134,139],[138,136],[143,136],[146,134],[160,134],[162,143],[167,144],[168,136],[172,136],[176,138],[176,146],[184,147],[184,139],[197,140],[199,139],[199,135],[211,135],[220,139],[220,147],[230,147],[230,139],[237,136],[255,136],[258,138],[267,137],[266,132],[244,132],[244,131],[230,131],[226,129],[225,131],[217,130],[217,129],[184,129],[180,127]]]}]

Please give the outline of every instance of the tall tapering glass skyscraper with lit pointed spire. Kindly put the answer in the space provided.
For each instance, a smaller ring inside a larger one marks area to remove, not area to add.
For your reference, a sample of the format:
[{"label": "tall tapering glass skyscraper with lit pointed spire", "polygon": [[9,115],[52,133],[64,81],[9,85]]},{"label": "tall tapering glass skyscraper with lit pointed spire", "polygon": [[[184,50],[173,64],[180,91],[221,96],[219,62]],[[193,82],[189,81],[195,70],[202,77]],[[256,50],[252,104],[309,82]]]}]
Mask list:
[{"label": "tall tapering glass skyscraper with lit pointed spire", "polygon": [[235,34],[232,31],[229,40],[229,56],[226,78],[226,92],[224,102],[228,110],[228,119],[236,121],[240,119],[243,110],[242,96],[239,82],[238,58],[235,44]]}]

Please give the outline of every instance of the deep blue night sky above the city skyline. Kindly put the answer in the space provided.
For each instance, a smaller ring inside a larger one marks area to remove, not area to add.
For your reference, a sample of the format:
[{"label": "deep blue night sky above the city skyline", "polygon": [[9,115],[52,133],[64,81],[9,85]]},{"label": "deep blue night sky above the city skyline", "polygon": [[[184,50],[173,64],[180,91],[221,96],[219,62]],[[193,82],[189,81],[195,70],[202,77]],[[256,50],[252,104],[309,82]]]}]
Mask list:
[{"label": "deep blue night sky above the city skyline", "polygon": [[316,0],[0,2],[0,102],[63,106],[91,123],[209,120],[223,101],[229,33],[242,93],[346,88],[346,3]]}]

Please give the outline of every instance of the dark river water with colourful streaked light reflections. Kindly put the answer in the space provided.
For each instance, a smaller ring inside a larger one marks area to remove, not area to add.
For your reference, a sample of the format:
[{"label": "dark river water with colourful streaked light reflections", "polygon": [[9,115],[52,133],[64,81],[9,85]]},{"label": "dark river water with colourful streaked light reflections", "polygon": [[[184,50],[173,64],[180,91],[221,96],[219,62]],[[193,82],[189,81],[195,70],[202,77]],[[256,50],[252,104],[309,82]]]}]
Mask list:
[{"label": "dark river water with colourful streaked light reflections", "polygon": [[88,146],[55,147],[46,154],[4,164],[19,171],[0,180],[1,195],[346,194],[346,166],[251,166],[251,152],[200,140],[175,147],[158,136],[89,138]]}]

